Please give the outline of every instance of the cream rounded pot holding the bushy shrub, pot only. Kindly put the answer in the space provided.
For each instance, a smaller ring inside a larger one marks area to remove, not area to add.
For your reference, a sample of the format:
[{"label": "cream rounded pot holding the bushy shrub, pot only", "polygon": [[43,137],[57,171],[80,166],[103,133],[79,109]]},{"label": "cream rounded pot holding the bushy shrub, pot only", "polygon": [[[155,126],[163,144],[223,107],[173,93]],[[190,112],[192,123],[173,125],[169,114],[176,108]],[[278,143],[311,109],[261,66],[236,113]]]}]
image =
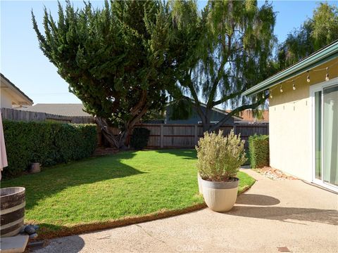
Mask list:
[{"label": "cream rounded pot holding the bushy shrub, pot only", "polygon": [[239,179],[230,182],[212,182],[201,179],[204,201],[215,212],[227,212],[237,199]]}]

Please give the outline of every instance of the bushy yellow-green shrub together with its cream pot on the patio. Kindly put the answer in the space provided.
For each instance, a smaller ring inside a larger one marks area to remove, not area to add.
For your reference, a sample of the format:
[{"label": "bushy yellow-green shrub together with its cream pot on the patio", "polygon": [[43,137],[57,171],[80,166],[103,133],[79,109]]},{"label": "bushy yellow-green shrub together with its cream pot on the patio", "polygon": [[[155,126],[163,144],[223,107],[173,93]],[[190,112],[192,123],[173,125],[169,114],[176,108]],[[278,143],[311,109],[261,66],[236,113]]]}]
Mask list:
[{"label": "bushy yellow-green shrub together with its cream pot on the patio", "polygon": [[239,167],[246,161],[244,141],[231,131],[226,137],[204,133],[197,150],[197,169],[201,176],[204,201],[215,212],[227,212],[237,199]]}]

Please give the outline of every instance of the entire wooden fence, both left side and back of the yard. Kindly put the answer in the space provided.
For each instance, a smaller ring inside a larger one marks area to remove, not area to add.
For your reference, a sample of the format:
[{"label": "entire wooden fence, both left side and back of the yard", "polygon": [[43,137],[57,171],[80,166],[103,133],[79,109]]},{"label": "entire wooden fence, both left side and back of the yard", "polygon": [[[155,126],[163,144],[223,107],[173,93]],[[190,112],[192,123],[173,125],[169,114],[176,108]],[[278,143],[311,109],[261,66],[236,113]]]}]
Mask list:
[{"label": "entire wooden fence, both left side and back of the yard", "polygon": [[[3,119],[15,121],[52,121],[75,124],[95,124],[94,117],[73,117],[51,115],[45,112],[29,112],[15,110],[11,108],[1,108]],[[137,124],[135,127],[145,127],[150,130],[147,148],[194,148],[203,137],[201,124]],[[220,127],[224,135],[234,129],[235,134],[241,134],[241,138],[246,141],[245,147],[248,148],[249,136],[254,134],[269,134],[269,124],[242,124],[224,125]],[[118,129],[113,129],[114,134],[118,134]],[[98,144],[101,145],[101,129],[97,127]]]}]

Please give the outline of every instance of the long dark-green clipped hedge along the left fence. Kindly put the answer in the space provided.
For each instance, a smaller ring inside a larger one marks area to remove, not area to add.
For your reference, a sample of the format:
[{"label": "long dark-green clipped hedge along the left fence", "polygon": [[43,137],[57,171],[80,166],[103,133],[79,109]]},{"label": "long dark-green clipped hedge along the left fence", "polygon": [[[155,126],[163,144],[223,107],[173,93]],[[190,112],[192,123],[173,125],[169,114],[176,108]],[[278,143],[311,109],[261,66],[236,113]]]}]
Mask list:
[{"label": "long dark-green clipped hedge along the left fence", "polygon": [[31,162],[42,166],[79,160],[96,148],[96,125],[4,120],[8,167],[5,177],[18,176]]}]

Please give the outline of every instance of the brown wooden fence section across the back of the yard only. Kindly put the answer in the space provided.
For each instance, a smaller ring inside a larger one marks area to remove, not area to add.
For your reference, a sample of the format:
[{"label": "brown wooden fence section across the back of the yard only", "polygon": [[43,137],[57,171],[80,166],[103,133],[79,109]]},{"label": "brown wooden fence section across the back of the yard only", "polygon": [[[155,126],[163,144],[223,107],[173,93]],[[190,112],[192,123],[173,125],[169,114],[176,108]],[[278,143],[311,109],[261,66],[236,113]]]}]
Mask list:
[{"label": "brown wooden fence section across the back of the yard only", "polygon": [[[203,128],[200,124],[138,124],[150,130],[148,148],[194,148],[203,137]],[[269,134],[269,124],[234,124],[220,127],[227,135],[231,129],[235,134],[241,134],[248,148],[249,136],[254,134]]]}]

